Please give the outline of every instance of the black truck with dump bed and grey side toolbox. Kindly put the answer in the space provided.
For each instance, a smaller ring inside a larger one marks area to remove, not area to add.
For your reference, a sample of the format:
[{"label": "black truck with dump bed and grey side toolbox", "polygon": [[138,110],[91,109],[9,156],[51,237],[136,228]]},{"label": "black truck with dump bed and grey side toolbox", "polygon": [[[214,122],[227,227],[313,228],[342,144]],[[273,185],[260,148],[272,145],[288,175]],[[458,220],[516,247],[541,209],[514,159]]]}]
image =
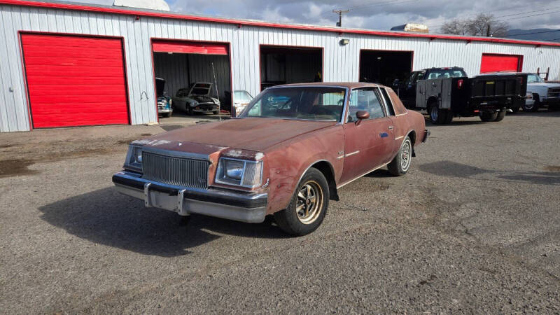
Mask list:
[{"label": "black truck with dump bed and grey side toolbox", "polygon": [[500,121],[507,111],[519,109],[527,94],[526,73],[489,73],[468,78],[463,68],[414,71],[393,87],[409,109],[427,109],[434,124],[454,117],[479,116]]}]

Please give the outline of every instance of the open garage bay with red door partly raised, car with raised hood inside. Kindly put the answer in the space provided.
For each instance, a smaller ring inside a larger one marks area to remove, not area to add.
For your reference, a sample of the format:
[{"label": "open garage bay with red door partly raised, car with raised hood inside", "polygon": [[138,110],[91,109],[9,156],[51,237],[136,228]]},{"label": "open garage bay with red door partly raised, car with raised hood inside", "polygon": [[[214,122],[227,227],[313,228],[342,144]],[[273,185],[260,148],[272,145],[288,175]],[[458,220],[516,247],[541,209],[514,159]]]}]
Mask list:
[{"label": "open garage bay with red door partly raised, car with raised hood inside", "polygon": [[156,81],[165,80],[157,96],[172,101],[174,115],[217,113],[218,103],[223,113],[231,111],[228,43],[155,40],[152,47]]}]

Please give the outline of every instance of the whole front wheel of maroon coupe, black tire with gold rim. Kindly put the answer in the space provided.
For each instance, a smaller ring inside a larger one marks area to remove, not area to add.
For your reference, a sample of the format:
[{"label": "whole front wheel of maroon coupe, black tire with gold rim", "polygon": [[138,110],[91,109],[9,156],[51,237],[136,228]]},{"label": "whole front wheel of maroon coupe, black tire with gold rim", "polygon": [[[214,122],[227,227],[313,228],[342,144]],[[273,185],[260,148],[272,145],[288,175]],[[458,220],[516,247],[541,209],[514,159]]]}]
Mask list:
[{"label": "whole front wheel of maroon coupe, black tire with gold rim", "polygon": [[[308,186],[313,190],[313,194],[309,193]],[[312,196],[315,196],[315,202],[311,202]],[[274,221],[290,235],[307,235],[317,230],[323,223],[327,213],[328,200],[327,179],[318,169],[311,167],[297,184],[297,189],[288,207],[274,214]]]}]

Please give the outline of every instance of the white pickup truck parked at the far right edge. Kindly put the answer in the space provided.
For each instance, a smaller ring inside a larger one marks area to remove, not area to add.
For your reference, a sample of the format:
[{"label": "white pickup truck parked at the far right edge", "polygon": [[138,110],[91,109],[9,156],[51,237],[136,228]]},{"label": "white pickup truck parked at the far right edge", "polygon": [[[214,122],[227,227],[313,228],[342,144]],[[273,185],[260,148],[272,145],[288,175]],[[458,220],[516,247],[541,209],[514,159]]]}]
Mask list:
[{"label": "white pickup truck parked at the far right edge", "polygon": [[541,107],[548,106],[549,110],[560,109],[560,83],[549,83],[542,80],[538,74],[529,73],[527,76],[527,98],[523,105],[524,111],[538,111]]}]

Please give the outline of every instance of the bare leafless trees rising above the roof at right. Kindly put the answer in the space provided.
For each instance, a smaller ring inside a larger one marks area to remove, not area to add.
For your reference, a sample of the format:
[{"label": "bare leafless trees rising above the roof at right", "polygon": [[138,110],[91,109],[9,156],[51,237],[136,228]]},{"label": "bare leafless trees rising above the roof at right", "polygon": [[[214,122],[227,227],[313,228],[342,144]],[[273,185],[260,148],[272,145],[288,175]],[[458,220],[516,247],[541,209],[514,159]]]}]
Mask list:
[{"label": "bare leafless trees rising above the roof at right", "polygon": [[441,31],[443,34],[504,37],[509,29],[507,23],[496,20],[493,15],[480,13],[476,18],[446,22]]}]

